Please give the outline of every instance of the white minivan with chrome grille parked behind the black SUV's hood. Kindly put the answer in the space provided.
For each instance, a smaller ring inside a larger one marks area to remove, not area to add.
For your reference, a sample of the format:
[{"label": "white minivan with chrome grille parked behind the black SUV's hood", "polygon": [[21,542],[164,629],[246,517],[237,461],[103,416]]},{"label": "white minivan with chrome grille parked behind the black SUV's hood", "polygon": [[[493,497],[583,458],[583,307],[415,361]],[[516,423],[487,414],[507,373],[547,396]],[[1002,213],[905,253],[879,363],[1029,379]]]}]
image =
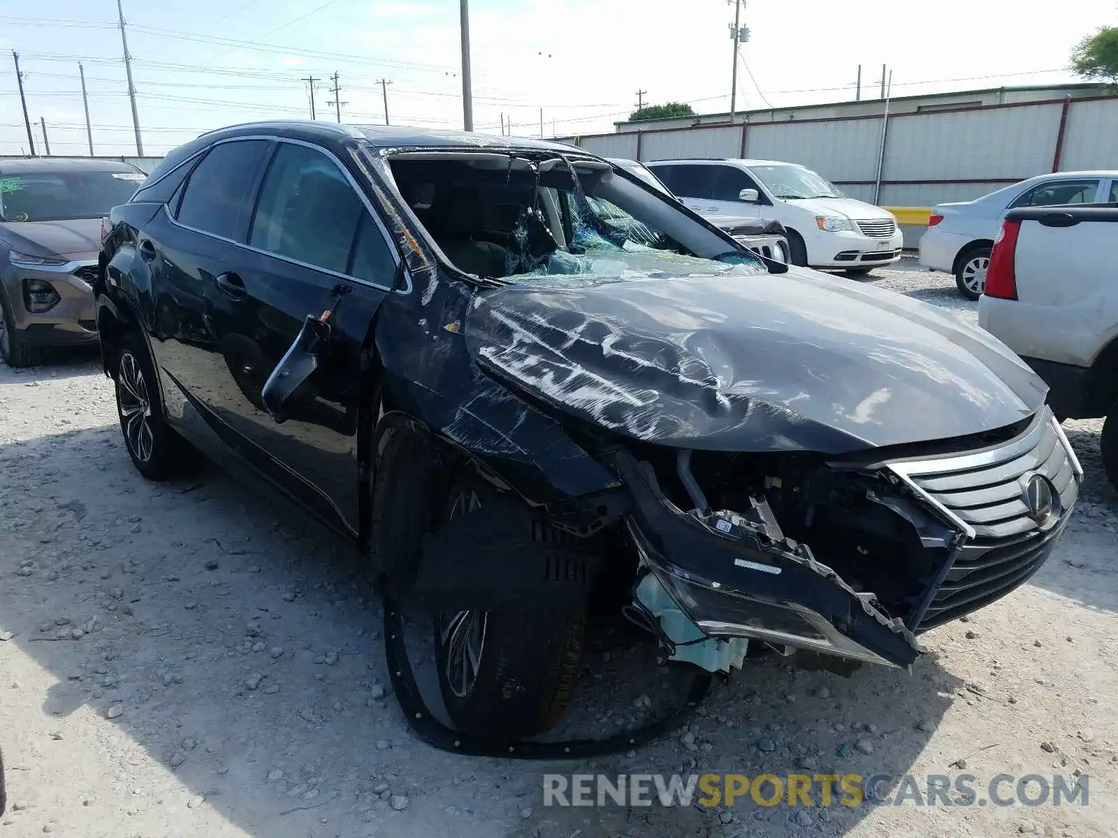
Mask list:
[{"label": "white minivan with chrome grille parked behind the black SUV's hood", "polygon": [[903,238],[889,210],[847,198],[806,166],[732,159],[645,165],[697,212],[780,221],[794,265],[865,274],[901,258]]}]

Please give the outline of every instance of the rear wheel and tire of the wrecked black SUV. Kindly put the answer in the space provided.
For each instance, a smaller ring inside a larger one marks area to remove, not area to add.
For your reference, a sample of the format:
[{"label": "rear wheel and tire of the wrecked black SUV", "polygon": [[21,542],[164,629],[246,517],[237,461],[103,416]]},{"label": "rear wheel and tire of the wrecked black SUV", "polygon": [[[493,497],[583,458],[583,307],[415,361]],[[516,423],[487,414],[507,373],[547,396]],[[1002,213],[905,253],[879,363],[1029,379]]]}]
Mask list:
[{"label": "rear wheel and tire of the wrecked black SUV", "polygon": [[124,447],[136,470],[149,480],[170,480],[197,470],[201,454],[167,423],[155,368],[135,332],[121,339],[113,381]]}]

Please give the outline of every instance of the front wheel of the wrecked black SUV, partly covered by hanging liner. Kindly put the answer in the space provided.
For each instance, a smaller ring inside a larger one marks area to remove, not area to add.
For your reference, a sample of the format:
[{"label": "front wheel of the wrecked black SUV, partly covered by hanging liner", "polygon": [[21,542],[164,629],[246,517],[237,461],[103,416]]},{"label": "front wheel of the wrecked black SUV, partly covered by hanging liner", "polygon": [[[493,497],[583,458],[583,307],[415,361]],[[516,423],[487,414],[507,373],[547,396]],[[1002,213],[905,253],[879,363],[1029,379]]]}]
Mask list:
[{"label": "front wheel of the wrecked black SUV, partly covered by hanging liner", "polygon": [[[448,521],[495,491],[462,469],[447,494]],[[434,631],[439,689],[458,730],[511,740],[559,721],[578,678],[581,613],[455,609],[435,615]]]}]

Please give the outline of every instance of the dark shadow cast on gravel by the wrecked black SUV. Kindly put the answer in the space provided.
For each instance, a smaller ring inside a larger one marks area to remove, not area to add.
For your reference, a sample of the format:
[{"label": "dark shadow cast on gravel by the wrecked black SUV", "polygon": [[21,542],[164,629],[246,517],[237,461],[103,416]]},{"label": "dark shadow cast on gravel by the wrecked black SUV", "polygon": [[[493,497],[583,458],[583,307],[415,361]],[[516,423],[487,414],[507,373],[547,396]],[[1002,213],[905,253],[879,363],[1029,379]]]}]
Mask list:
[{"label": "dark shadow cast on gravel by the wrecked black SUV", "polygon": [[[721,838],[796,831],[805,818],[842,835],[871,809],[800,815],[749,799],[732,811],[544,809],[541,774],[899,775],[964,689],[930,656],[911,674],[864,667],[843,678],[769,655],[716,688],[685,731],[638,752],[550,764],[456,758],[411,739],[391,696],[376,697],[388,679],[360,556],[285,501],[212,467],[150,484],[115,426],[0,448],[0,630],[16,632],[0,650],[57,678],[42,702],[57,724],[88,706],[122,729],[142,749],[130,764],[162,778],[148,804],[176,819],[193,817],[188,797],[205,797],[268,838]],[[655,689],[643,686],[657,675],[641,663],[647,644],[619,632],[590,646],[589,698],[567,723],[624,725]],[[9,766],[26,769],[9,769],[12,802],[34,801],[44,778],[28,754],[39,743],[17,732],[4,745]],[[75,796],[93,788],[76,781]],[[391,796],[409,798],[407,811]]]}]

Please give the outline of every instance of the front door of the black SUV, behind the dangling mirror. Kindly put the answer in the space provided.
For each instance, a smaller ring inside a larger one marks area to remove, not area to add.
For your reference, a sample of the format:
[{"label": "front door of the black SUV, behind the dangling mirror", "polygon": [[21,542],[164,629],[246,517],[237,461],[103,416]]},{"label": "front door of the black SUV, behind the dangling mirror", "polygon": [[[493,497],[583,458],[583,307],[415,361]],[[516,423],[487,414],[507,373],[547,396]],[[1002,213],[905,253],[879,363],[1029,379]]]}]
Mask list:
[{"label": "front door of the black SUV, behind the dangling mirror", "polygon": [[[243,454],[321,517],[356,533],[362,345],[391,292],[398,255],[357,183],[332,153],[277,141],[262,179],[247,246],[211,293],[226,373],[211,408]],[[307,314],[337,302],[331,345],[312,398],[276,423],[260,390]]]}]

